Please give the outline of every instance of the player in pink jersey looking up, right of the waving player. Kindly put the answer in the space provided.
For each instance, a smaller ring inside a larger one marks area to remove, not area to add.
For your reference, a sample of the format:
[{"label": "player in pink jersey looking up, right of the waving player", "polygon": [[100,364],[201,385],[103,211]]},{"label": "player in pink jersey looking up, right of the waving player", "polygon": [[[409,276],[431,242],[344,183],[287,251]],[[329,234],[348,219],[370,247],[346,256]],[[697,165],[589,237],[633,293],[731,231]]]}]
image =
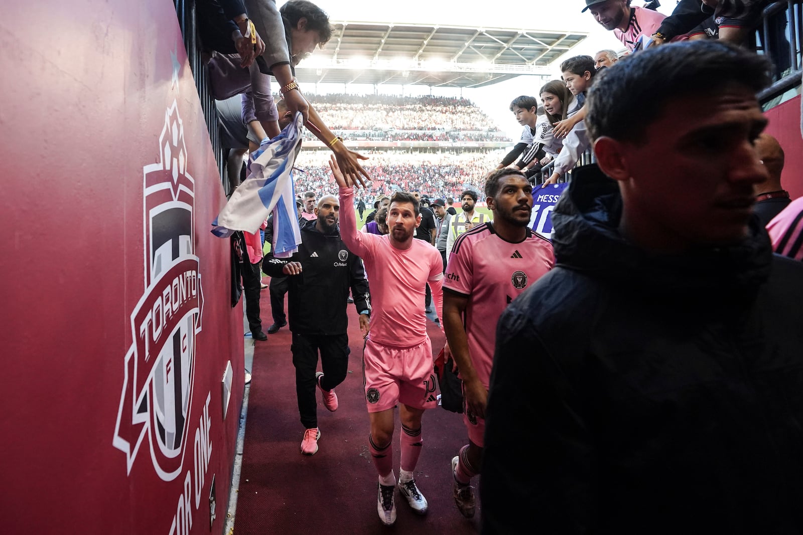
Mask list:
[{"label": "player in pink jersey looking up, right of the waving player", "polygon": [[555,264],[552,244],[528,229],[532,186],[522,172],[493,172],[485,182],[485,196],[493,222],[454,242],[443,283],[443,327],[463,379],[463,422],[468,430],[468,444],[452,459],[453,494],[467,518],[476,508],[471,478],[482,469],[496,322],[508,303]]}]

